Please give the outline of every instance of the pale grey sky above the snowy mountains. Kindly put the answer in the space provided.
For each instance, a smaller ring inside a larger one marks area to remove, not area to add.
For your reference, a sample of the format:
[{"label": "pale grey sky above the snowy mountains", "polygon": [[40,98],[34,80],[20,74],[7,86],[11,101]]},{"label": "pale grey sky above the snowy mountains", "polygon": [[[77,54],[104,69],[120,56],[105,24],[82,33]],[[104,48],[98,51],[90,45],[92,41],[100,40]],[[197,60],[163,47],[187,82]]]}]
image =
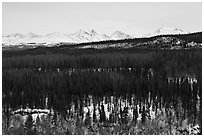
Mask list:
[{"label": "pale grey sky above the snowy mountains", "polygon": [[202,30],[201,2],[3,2],[2,34],[119,30],[140,36],[160,27]]}]

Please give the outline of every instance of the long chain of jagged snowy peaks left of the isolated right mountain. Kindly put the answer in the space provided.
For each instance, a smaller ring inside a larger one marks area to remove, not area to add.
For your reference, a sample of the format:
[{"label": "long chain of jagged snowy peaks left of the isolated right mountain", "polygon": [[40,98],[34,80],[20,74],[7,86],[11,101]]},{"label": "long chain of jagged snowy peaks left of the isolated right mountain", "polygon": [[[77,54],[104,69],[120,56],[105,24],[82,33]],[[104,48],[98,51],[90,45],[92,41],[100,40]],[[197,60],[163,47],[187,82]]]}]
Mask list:
[{"label": "long chain of jagged snowy peaks left of the isolated right mountain", "polygon": [[118,40],[118,39],[127,39],[131,36],[124,34],[123,32],[116,31],[111,35],[111,37],[106,34],[99,34],[95,30],[89,32],[80,30],[73,34],[63,34],[59,32],[50,33],[47,35],[37,35],[32,32],[29,32],[25,35],[16,33],[7,36],[3,36],[3,45],[20,45],[27,43],[46,43],[54,44],[60,42],[69,42],[69,43],[84,43],[84,42],[95,42],[95,41],[105,41],[105,40]]}]

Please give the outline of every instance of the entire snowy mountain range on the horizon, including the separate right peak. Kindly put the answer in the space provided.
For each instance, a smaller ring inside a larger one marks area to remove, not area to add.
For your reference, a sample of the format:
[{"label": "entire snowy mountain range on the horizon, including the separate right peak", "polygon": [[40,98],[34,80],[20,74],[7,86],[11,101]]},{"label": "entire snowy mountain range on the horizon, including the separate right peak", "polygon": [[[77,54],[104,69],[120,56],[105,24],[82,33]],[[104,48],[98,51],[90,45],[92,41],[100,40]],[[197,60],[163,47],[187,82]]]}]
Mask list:
[{"label": "entire snowy mountain range on the horizon, including the separate right peak", "polygon": [[[156,31],[146,34],[143,37],[152,37],[157,35],[166,35],[166,34],[186,34],[181,29],[162,27]],[[108,36],[106,34],[97,33],[95,30],[83,31],[79,30],[73,34],[63,34],[60,32],[54,32],[47,35],[37,35],[32,32],[29,32],[25,35],[16,33],[3,36],[2,44],[3,46],[11,45],[53,45],[60,42],[66,43],[86,43],[86,42],[96,42],[96,41],[106,41],[106,40],[121,40],[121,39],[130,39],[134,38],[128,34],[125,34],[121,31],[115,31],[112,35]]]}]

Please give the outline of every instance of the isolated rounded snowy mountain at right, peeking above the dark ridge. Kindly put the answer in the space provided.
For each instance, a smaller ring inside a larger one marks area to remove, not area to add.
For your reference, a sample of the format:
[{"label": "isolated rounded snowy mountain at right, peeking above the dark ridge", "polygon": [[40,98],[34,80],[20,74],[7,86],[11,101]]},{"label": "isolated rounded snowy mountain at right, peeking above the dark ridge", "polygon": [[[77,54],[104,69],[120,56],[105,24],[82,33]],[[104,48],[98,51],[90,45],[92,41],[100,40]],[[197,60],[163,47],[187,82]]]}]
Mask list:
[{"label": "isolated rounded snowy mountain at right, peeking above the dark ridge", "polygon": [[152,33],[144,35],[144,37],[152,37],[152,36],[167,35],[167,34],[186,34],[186,33],[187,32],[184,32],[183,30],[178,28],[161,27]]}]

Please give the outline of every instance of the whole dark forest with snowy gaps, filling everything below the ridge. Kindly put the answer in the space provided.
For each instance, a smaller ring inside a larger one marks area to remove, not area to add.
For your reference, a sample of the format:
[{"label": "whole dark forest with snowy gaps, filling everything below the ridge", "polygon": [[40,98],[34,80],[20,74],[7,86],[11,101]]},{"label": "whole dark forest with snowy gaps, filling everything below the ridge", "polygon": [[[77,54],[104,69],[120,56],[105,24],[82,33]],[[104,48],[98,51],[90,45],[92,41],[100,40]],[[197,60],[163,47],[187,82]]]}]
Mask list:
[{"label": "whole dark forest with snowy gaps, filling everything below the ridge", "polygon": [[45,49],[3,51],[3,134],[202,133],[201,49]]}]

